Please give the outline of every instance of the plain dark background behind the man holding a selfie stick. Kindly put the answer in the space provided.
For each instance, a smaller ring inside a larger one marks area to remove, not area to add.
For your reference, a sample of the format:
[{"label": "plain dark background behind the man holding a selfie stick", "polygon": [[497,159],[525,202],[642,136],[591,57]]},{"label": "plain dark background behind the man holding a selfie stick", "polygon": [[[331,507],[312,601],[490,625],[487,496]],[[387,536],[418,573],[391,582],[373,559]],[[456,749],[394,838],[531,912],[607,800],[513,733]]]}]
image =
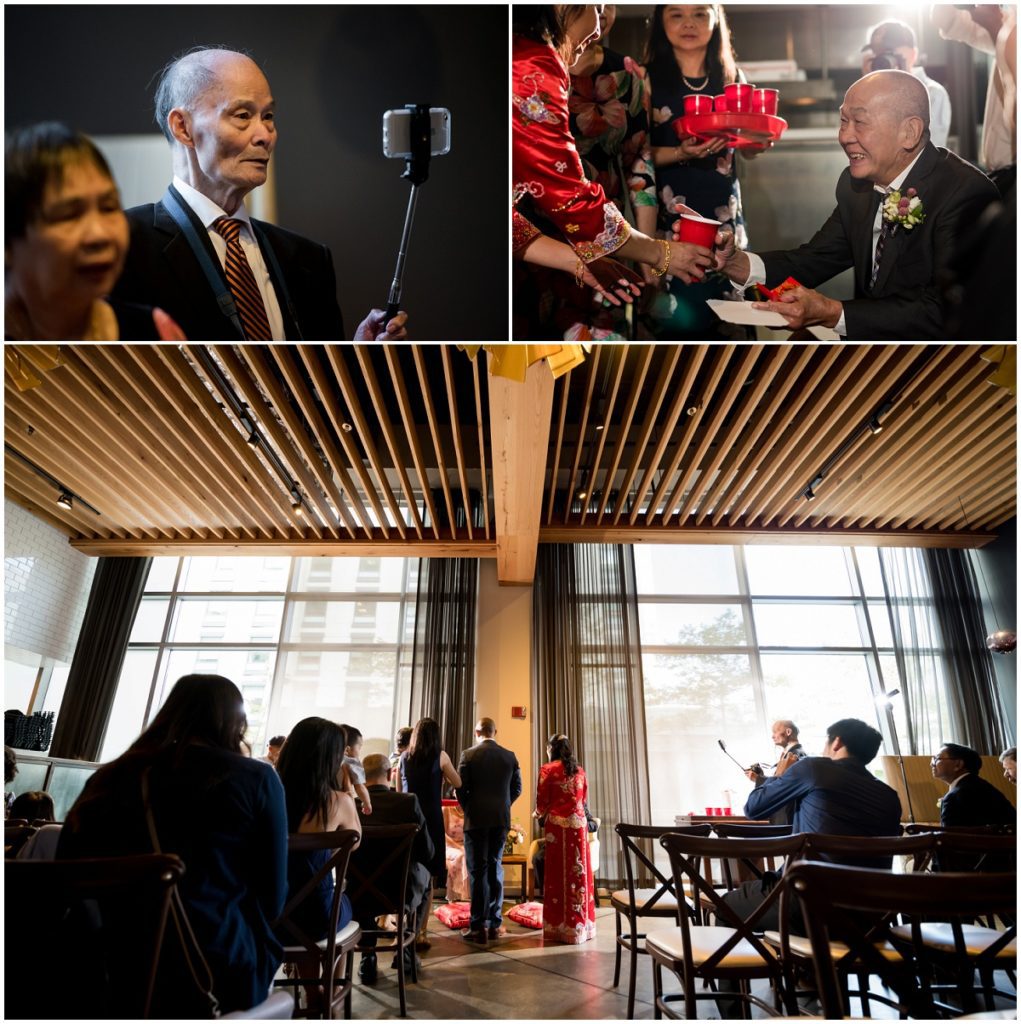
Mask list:
[{"label": "plain dark background behind the man holding a selfie stick", "polygon": [[8,6],[4,22],[8,127],[156,132],[164,63],[198,44],[248,49],[276,100],[279,222],[333,251],[348,332],[386,304],[410,191],[382,155],[383,112],[449,108],[401,304],[418,341],[507,339],[507,7]]}]

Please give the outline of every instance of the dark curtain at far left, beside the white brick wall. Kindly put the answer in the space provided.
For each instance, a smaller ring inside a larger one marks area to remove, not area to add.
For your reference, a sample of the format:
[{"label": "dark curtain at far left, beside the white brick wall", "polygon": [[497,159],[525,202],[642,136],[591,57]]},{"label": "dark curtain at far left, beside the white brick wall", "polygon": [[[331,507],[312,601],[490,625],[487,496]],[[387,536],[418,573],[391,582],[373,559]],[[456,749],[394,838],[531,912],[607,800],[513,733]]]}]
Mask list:
[{"label": "dark curtain at far left, beside the white brick wall", "polygon": [[152,558],[100,558],[49,754],[96,761]]}]

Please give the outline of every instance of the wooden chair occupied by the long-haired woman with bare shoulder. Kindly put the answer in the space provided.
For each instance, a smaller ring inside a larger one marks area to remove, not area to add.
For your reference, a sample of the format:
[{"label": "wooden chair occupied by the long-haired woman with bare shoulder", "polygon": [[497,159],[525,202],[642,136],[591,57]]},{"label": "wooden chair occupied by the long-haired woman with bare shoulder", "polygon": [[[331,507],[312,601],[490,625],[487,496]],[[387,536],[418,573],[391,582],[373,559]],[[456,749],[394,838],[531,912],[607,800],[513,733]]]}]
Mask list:
[{"label": "wooden chair occupied by the long-haired woman with bare shoulder", "polygon": [[[326,833],[296,833],[288,837],[288,856],[304,856],[321,850],[331,851],[330,857],[297,892],[288,893],[287,903],[273,930],[284,943],[284,963],[293,966],[291,973],[274,982],[276,987],[293,987],[293,1016],[321,1017],[331,1020],[344,1006],[345,1017],[351,1016],[351,984],[354,950],[361,937],[357,922],[351,921],[338,929],[341,899],[351,851],[358,843],[358,834],[350,828]],[[310,935],[300,923],[307,900],[318,899],[320,888],[330,874],[334,877],[333,901],[325,938]],[[306,1009],[299,1010],[300,990],[306,993]]]}]

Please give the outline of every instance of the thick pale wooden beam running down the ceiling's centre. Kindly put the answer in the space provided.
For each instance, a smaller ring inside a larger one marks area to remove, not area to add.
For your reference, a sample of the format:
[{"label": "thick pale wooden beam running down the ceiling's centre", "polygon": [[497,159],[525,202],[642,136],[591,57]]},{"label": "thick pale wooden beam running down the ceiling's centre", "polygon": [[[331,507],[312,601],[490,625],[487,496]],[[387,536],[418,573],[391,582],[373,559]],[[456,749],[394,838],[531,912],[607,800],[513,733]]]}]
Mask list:
[{"label": "thick pale wooden beam running down the ceiling's centre", "polygon": [[502,584],[530,584],[536,574],[552,420],[553,375],[545,359],[528,368],[523,384],[490,378],[497,575]]}]

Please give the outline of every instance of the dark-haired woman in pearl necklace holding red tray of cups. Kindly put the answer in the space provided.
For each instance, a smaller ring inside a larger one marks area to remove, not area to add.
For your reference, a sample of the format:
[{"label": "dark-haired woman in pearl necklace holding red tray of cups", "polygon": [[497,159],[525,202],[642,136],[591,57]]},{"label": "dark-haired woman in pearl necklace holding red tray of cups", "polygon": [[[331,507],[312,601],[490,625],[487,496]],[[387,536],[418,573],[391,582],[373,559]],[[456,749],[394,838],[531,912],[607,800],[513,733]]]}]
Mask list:
[{"label": "dark-haired woman in pearl necklace holding red tray of cups", "polygon": [[[686,95],[716,96],[743,81],[734,61],[722,4],[657,4],[645,51],[652,90],[652,162],[660,201],[660,227],[670,233],[684,207],[733,230],[738,249],[748,248],[734,151],[723,139],[680,139],[673,122],[684,113]],[[745,151],[748,155],[749,151]],[[661,338],[715,336],[721,322],[706,305],[730,290],[720,273],[685,285],[674,281],[670,297],[652,310]]]}]

